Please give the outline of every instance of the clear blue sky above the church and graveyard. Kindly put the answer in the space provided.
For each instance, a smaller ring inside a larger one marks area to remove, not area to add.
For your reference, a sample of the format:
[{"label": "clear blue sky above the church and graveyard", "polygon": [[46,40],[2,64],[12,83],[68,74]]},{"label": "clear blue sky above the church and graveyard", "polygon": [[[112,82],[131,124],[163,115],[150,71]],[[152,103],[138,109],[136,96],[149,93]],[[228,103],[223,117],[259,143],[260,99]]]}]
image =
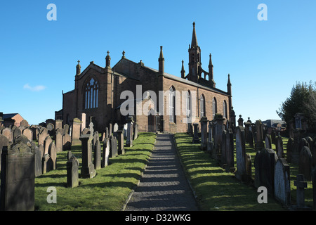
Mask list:
[{"label": "clear blue sky above the church and graveyard", "polygon": [[[48,4],[57,20],[48,21]],[[257,18],[259,4],[268,20]],[[62,90],[74,89],[77,60],[105,66],[126,58],[165,72],[187,71],[192,23],[202,68],[212,54],[216,87],[232,82],[237,115],[252,121],[279,119],[275,111],[296,82],[315,81],[316,1],[2,1],[0,4],[0,112],[20,113],[30,124],[54,118]]]}]

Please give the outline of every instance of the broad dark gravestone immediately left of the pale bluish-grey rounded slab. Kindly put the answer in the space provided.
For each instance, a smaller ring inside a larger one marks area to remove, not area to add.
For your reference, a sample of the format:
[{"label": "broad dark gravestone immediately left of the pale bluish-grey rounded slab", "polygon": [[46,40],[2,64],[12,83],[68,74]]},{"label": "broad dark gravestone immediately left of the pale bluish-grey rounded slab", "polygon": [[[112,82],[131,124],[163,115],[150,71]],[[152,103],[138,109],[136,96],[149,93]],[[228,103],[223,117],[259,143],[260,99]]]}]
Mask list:
[{"label": "broad dark gravestone immediately left of the pale bluish-grey rounded slab", "polygon": [[277,162],[277,154],[274,150],[262,148],[258,150],[255,157],[255,186],[265,186],[268,193],[273,193],[275,162]]}]

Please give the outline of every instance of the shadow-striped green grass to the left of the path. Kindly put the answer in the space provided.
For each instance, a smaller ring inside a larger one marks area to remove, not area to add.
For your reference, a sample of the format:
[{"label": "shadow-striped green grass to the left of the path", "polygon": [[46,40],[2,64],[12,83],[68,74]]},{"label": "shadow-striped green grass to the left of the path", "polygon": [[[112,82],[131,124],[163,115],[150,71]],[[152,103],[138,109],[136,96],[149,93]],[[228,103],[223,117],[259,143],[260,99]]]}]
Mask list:
[{"label": "shadow-striped green grass to the left of the path", "polygon": [[[141,173],[152,153],[156,134],[140,133],[133,147],[125,148],[125,154],[110,158],[105,168],[96,170],[92,179],[79,178],[79,186],[67,188],[67,152],[58,153],[56,169],[35,179],[35,210],[39,211],[118,211],[138,184]],[[79,160],[81,146],[72,146],[72,155]],[[56,188],[57,203],[48,203],[50,192]]]}]

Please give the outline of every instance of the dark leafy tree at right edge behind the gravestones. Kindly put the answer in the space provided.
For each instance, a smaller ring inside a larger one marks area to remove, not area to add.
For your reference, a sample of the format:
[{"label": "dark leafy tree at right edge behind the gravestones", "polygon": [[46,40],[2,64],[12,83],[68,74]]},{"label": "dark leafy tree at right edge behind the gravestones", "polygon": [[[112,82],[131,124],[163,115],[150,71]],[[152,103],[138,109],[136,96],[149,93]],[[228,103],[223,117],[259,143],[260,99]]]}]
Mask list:
[{"label": "dark leafy tree at right edge behind the gravestones", "polygon": [[312,84],[296,82],[291,90],[291,95],[284,101],[281,108],[277,110],[277,115],[282,120],[289,123],[294,120],[296,113],[303,113],[308,124],[312,126],[316,121],[316,82]]}]

